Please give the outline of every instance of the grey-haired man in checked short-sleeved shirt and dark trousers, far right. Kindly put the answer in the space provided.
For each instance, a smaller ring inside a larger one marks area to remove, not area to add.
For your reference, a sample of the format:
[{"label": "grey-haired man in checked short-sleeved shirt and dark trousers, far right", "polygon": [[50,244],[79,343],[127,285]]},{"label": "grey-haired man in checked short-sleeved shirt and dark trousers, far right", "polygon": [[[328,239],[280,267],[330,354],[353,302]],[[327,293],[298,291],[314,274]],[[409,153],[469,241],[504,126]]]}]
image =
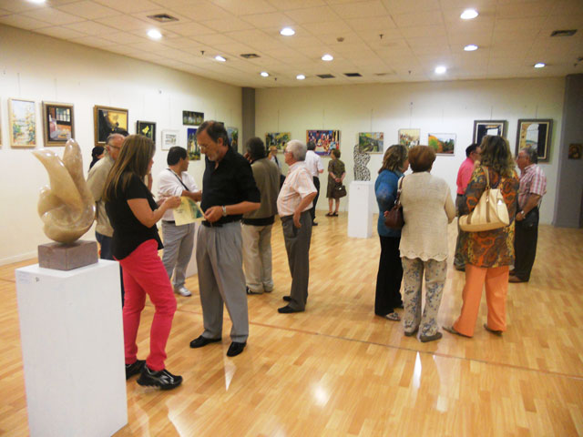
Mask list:
[{"label": "grey-haired man in checked short-sleeved shirt and dark trousers, far right", "polygon": [[538,208],[547,192],[547,177],[537,162],[536,148],[524,147],[518,152],[520,188],[514,238],[515,261],[508,278],[510,282],[528,282],[537,255]]}]

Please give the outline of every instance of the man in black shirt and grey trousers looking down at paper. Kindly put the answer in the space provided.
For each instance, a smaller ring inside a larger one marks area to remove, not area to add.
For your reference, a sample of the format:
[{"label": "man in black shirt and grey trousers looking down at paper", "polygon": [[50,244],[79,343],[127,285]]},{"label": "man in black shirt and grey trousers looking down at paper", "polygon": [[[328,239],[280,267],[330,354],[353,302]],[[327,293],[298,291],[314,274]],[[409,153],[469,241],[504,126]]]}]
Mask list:
[{"label": "man in black shirt and grey trousers looking down at paper", "polygon": [[205,121],[197,131],[197,141],[206,155],[200,202],[204,220],[196,249],[204,331],[190,341],[190,347],[220,341],[224,302],[232,321],[227,355],[234,357],[243,351],[249,336],[240,219],[260,208],[261,195],[251,164],[230,147],[222,123]]}]

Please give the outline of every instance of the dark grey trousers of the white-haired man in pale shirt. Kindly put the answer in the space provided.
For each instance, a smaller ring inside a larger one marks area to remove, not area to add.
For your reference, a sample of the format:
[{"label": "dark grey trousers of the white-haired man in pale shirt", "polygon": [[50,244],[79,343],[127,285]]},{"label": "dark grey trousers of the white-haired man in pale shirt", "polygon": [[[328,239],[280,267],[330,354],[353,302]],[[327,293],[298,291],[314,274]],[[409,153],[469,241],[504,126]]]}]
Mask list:
[{"label": "dark grey trousers of the white-haired man in pale shirt", "polygon": [[305,310],[308,301],[308,281],[310,279],[310,240],[312,239],[312,215],[310,209],[300,216],[300,229],[293,225],[293,216],[281,218],[285,250],[292,274],[290,307]]}]

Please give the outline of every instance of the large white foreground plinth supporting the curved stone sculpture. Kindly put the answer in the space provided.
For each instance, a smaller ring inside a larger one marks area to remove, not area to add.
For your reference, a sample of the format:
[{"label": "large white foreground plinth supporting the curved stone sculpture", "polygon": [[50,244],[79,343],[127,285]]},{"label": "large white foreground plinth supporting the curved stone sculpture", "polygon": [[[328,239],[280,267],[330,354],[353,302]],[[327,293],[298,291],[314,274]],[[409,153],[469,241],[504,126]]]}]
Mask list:
[{"label": "large white foreground plinth supporting the curved stone sculpture", "polygon": [[15,270],[32,436],[105,436],[128,423],[119,265]]}]

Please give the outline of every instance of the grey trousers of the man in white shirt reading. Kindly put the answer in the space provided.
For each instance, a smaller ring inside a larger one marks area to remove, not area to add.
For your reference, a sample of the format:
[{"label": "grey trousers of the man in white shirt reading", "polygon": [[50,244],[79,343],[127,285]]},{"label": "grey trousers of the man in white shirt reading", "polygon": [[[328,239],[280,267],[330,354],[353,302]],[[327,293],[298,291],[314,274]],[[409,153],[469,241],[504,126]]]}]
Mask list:
[{"label": "grey trousers of the man in white shirt reading", "polygon": [[186,280],[186,268],[194,249],[194,223],[176,226],[174,223],[162,221],[162,236],[164,237],[162,263],[169,279],[172,279],[174,272],[172,285],[176,290],[182,287]]}]

